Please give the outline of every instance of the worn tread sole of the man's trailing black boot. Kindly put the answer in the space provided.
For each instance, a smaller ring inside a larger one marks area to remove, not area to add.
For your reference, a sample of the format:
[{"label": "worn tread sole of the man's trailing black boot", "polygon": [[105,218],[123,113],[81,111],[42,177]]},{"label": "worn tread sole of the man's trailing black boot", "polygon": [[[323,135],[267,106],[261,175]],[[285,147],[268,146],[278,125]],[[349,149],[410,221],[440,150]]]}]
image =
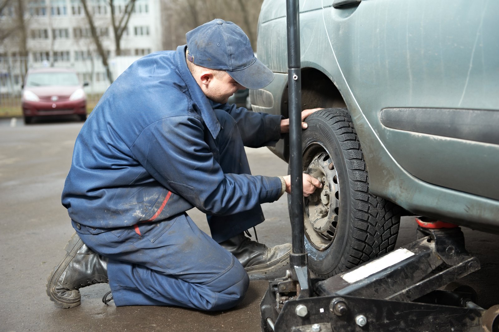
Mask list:
[{"label": "worn tread sole of the man's trailing black boot", "polygon": [[[81,241],[79,236],[75,236],[76,233],[74,233],[71,236],[71,239],[69,242],[66,244],[64,247],[64,250],[66,250],[66,256],[60,261],[60,263],[52,269],[52,272],[50,272],[50,275],[48,276],[47,279],[47,295],[50,298],[50,300],[55,303],[56,306],[64,309],[68,308],[74,308],[77,307],[81,304],[81,295],[79,294],[78,291],[78,297],[74,299],[68,299],[64,297],[60,297],[57,292],[55,291],[55,286],[57,284],[57,280],[59,280],[62,272],[64,269],[67,267],[69,262],[74,258],[76,253],[78,252],[78,249],[81,247],[83,244],[83,241]],[[62,268],[62,270],[61,270]]]}]

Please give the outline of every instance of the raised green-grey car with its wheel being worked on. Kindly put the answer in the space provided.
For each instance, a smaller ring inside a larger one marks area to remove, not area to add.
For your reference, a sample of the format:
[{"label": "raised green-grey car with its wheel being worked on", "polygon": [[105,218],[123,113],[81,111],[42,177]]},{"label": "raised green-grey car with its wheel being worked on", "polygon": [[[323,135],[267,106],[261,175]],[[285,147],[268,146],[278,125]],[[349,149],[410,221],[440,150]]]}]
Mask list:
[{"label": "raised green-grey car with its wheel being worked on", "polygon": [[[300,1],[304,242],[319,277],[394,249],[400,216],[499,232],[498,1]],[[285,0],[264,0],[253,111],[288,117]],[[289,138],[270,148],[289,160]]]}]

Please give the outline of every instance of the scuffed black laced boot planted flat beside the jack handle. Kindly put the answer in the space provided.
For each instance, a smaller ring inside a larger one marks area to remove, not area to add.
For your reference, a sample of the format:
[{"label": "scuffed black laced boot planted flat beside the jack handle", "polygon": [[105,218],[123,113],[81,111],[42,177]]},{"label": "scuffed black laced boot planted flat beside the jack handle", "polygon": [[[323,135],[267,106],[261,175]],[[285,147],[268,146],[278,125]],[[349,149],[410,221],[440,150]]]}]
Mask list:
[{"label": "scuffed black laced boot planted flat beside the jack handle", "polygon": [[290,243],[269,248],[241,233],[220,245],[236,256],[250,276],[267,274],[289,264]]}]

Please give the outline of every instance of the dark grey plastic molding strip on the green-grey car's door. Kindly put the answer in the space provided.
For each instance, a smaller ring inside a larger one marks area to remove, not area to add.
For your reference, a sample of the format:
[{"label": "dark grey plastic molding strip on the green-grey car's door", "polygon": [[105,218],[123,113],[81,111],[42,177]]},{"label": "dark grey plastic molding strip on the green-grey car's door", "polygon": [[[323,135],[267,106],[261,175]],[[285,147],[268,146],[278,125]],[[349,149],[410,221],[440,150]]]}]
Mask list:
[{"label": "dark grey plastic molding strip on the green-grey car's door", "polygon": [[499,145],[499,110],[385,108],[379,118],[392,129]]}]

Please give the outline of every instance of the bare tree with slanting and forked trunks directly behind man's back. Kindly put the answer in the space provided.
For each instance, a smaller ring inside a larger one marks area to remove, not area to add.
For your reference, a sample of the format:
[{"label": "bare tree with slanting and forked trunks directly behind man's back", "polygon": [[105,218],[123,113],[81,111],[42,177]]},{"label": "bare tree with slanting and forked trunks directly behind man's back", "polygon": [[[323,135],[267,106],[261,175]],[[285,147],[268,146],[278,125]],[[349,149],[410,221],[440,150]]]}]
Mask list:
[{"label": "bare tree with slanting and forked trunks directly behind man's back", "polygon": [[[100,35],[97,33],[97,28],[95,26],[95,22],[93,20],[93,16],[88,8],[87,0],[80,0],[81,5],[83,7],[83,11],[85,12],[85,16],[88,21],[88,25],[90,28],[90,33],[92,35],[92,39],[95,43],[95,47],[97,49],[97,53],[99,54],[102,65],[106,69],[106,75],[110,83],[113,83],[113,77],[111,73],[111,69],[109,68],[108,55],[102,46],[102,41],[100,39]],[[111,25],[113,27],[114,33],[114,42],[116,46],[116,55],[121,54],[121,37],[123,36],[123,32],[126,30],[128,21],[130,20],[130,16],[132,15],[133,8],[135,6],[136,0],[128,0],[127,4],[124,7],[123,13],[121,16],[116,16],[114,0],[108,0],[108,6],[110,6],[111,11]]]}]

